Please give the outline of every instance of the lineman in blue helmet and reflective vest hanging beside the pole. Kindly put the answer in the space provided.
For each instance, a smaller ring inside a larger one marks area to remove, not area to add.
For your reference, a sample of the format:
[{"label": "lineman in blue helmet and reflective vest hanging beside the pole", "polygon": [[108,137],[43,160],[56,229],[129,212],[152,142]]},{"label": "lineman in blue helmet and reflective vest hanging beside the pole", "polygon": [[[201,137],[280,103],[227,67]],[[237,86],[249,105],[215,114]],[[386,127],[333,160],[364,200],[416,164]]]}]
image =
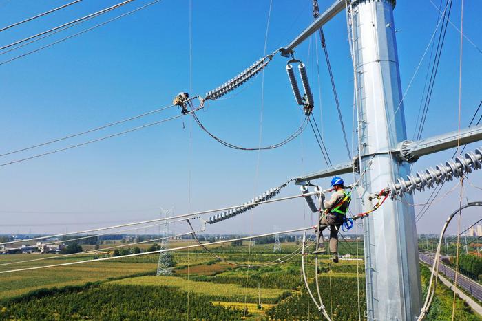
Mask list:
[{"label": "lineman in blue helmet and reflective vest hanging beside the pole", "polygon": [[[338,230],[346,220],[351,193],[344,190],[344,181],[341,177],[333,177],[331,186],[333,186],[335,192],[333,192],[329,201],[323,201],[324,211],[319,219],[319,247],[313,254],[322,254],[326,251],[322,232],[330,227],[330,252],[333,262],[338,263]],[[322,198],[324,199],[324,195],[322,195]]]}]

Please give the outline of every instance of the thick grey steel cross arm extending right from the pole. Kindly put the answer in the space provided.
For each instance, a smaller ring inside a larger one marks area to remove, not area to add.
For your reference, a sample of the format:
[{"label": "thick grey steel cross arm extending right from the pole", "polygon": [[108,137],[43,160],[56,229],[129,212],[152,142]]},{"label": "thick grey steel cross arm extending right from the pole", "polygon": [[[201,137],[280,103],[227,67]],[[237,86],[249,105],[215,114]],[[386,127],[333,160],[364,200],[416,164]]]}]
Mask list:
[{"label": "thick grey steel cross arm extending right from the pole", "polygon": [[412,163],[416,162],[421,156],[454,148],[459,144],[478,142],[479,140],[482,140],[482,125],[461,129],[460,133],[459,131],[452,131],[417,142],[404,140],[404,142],[399,143],[395,152],[398,153],[401,160]]}]

